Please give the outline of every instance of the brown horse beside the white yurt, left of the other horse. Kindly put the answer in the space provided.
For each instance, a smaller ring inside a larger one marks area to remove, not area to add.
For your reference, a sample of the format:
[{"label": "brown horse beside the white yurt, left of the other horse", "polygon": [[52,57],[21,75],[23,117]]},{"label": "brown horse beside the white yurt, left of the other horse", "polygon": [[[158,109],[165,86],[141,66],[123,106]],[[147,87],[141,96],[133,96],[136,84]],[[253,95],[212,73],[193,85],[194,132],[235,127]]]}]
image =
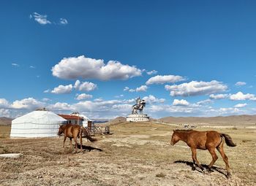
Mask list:
[{"label": "brown horse beside the white yurt, left of the other horse", "polygon": [[97,139],[91,138],[86,128],[83,128],[80,125],[72,125],[71,123],[60,125],[58,135],[60,136],[61,133],[64,133],[63,147],[65,147],[64,145],[68,137],[70,139],[70,150],[72,150],[72,138],[75,140],[75,152],[78,152],[78,140],[77,140],[78,137],[80,138],[80,151],[82,152],[83,150],[82,134],[84,134],[86,138],[89,139],[90,142],[97,141]]}]

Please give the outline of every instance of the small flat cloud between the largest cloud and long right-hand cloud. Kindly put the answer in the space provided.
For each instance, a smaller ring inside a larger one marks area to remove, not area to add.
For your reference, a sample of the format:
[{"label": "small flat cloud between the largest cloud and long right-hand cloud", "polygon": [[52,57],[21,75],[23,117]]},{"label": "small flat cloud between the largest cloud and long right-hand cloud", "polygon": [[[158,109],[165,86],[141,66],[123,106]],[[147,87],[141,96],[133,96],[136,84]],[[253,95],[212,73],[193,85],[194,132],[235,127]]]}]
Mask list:
[{"label": "small flat cloud between the largest cloud and long right-hand cloud", "polygon": [[164,84],[166,82],[181,82],[186,80],[186,78],[181,77],[181,76],[174,76],[174,75],[165,75],[165,76],[160,76],[157,75],[155,77],[149,78],[149,80],[146,82],[146,85],[151,85],[151,84]]}]

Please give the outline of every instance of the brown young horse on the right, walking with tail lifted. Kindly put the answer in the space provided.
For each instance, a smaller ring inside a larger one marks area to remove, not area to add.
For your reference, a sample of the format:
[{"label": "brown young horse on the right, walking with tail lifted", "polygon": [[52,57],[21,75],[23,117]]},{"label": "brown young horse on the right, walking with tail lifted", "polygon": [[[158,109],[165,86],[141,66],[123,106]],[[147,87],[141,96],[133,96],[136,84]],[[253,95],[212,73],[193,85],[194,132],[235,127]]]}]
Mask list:
[{"label": "brown young horse on the right, walking with tail lifted", "polygon": [[218,133],[217,131],[174,130],[170,144],[174,145],[179,140],[187,143],[192,151],[193,171],[195,171],[195,162],[197,163],[197,166],[200,167],[203,171],[203,166],[201,166],[197,160],[197,149],[208,150],[211,153],[212,160],[208,165],[208,171],[211,171],[211,167],[218,159],[218,156],[215,152],[215,149],[217,148],[226,164],[227,177],[230,177],[230,166],[228,164],[228,158],[223,150],[224,139],[227,146],[236,147],[236,144],[233,143],[229,135],[225,133]]}]

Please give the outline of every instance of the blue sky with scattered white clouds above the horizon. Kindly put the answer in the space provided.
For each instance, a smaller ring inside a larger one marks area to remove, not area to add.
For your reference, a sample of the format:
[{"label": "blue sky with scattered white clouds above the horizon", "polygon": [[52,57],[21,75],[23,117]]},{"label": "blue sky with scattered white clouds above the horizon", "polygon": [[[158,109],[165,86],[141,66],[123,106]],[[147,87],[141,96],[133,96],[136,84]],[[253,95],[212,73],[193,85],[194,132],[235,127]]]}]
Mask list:
[{"label": "blue sky with scattered white clouds above the horizon", "polygon": [[0,117],[256,113],[256,1],[0,1]]}]

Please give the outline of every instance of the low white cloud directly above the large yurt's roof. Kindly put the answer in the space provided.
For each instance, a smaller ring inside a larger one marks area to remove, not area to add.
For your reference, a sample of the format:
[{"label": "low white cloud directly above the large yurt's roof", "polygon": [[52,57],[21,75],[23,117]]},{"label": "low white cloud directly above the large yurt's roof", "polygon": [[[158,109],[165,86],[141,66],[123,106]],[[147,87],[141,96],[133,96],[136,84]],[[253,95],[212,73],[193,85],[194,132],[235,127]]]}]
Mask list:
[{"label": "low white cloud directly above the large yurt's roof", "polygon": [[45,103],[37,101],[34,98],[24,98],[22,100],[16,100],[11,105],[12,109],[38,109],[45,107]]}]

